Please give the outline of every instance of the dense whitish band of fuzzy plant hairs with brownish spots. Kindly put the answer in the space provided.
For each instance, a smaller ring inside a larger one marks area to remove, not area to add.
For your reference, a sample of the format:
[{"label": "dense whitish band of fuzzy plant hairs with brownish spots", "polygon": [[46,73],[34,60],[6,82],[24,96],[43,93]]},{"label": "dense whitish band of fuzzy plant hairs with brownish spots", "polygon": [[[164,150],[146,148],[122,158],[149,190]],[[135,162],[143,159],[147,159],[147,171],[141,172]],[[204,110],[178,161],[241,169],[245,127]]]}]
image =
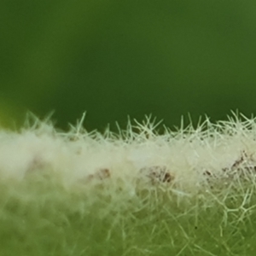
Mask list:
[{"label": "dense whitish band of fuzzy plant hairs with brownish spots", "polygon": [[[49,119],[33,117],[20,131],[0,131],[0,176],[22,182],[32,173],[60,177],[67,187],[90,188],[111,183],[135,193],[137,187],[162,187],[180,195],[229,187],[237,181],[255,183],[256,122],[233,113],[227,121],[209,118],[197,127],[177,131],[146,116],[128,121],[119,133],[88,132],[82,119],[68,132],[55,130]],[[119,127],[119,126],[118,126]]]}]

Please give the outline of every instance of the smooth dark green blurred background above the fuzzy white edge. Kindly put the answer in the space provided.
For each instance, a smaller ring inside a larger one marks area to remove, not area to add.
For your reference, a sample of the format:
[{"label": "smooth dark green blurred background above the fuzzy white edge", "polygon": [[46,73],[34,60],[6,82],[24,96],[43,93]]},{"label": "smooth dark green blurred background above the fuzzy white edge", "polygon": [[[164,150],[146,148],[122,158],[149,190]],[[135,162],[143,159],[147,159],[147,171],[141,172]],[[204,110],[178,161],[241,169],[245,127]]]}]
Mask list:
[{"label": "smooth dark green blurred background above the fuzzy white edge", "polygon": [[0,123],[88,130],[256,113],[254,0],[2,0]]}]

